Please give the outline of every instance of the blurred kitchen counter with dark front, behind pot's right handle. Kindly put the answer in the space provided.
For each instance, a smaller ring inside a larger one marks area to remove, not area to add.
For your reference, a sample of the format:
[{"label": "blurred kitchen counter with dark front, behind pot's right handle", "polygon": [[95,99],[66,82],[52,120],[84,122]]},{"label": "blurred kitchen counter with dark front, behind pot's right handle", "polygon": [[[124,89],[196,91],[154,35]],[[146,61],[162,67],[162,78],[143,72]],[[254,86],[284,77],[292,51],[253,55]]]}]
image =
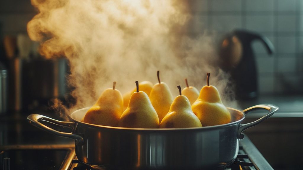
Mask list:
[{"label": "blurred kitchen counter with dark front, behind pot's right handle", "polygon": [[[263,103],[276,105],[279,110],[257,126],[245,130],[245,135],[274,169],[302,169],[297,162],[303,161],[303,96],[262,95],[241,101],[239,105],[246,109]],[[265,110],[251,111],[242,124],[253,122],[266,113]]]}]

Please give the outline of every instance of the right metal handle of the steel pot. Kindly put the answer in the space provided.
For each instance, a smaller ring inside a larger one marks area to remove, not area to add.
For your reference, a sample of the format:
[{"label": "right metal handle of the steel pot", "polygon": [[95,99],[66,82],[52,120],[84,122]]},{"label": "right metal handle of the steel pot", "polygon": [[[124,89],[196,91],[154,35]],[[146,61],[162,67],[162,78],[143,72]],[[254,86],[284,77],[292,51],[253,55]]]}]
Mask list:
[{"label": "right metal handle of the steel pot", "polygon": [[265,116],[261,117],[260,119],[254,121],[254,122],[240,125],[240,127],[238,129],[238,138],[239,139],[244,138],[244,134],[242,133],[244,130],[261,123],[262,121],[269,118],[271,115],[273,115],[274,113],[276,113],[279,110],[279,108],[273,104],[259,104],[256,106],[249,107],[249,108],[243,110],[243,112],[245,114],[247,114],[248,112],[250,112],[252,110],[256,110],[256,109],[266,109],[266,110],[268,110],[268,113]]}]

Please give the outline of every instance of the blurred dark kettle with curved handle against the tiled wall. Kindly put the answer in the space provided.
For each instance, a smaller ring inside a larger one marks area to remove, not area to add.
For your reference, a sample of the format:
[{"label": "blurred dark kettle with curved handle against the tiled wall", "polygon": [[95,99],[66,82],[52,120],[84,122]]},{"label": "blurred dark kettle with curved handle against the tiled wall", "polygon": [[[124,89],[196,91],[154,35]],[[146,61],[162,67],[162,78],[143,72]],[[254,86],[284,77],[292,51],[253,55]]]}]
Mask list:
[{"label": "blurred dark kettle with curved handle against the tiled wall", "polygon": [[220,44],[220,67],[231,74],[238,99],[250,99],[258,95],[257,68],[251,43],[260,40],[269,54],[274,51],[271,41],[258,33],[235,30],[225,36]]}]

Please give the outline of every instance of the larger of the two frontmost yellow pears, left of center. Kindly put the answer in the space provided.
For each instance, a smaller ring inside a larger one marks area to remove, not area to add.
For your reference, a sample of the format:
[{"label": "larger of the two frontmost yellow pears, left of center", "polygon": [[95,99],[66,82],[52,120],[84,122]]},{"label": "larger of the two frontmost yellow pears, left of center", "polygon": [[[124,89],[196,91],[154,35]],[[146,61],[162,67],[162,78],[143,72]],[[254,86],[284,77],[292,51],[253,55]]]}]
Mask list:
[{"label": "larger of the two frontmost yellow pears, left of center", "polygon": [[136,81],[137,91],[132,93],[126,110],[122,113],[119,127],[129,128],[158,128],[159,118],[151,105],[147,94],[139,91],[139,83]]}]

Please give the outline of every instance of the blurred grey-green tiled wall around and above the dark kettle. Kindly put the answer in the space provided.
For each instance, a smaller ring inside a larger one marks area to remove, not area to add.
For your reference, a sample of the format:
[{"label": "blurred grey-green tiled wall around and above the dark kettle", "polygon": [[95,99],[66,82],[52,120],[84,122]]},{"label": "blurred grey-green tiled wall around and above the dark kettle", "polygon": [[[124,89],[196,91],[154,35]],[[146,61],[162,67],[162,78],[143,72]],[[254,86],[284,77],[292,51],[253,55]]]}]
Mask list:
[{"label": "blurred grey-green tiled wall around and above the dark kettle", "polygon": [[[300,0],[191,1],[192,32],[234,29],[266,36],[275,47],[269,55],[261,41],[252,42],[260,93],[302,93],[303,2]],[[220,36],[218,36],[220,37]]]}]

